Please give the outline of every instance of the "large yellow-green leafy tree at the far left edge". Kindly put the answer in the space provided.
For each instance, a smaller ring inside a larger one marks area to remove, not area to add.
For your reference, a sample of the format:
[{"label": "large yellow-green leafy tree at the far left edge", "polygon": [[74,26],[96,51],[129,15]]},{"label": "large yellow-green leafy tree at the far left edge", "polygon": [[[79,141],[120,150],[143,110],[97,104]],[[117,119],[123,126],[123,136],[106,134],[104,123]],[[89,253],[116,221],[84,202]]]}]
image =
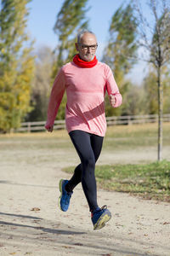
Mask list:
[{"label": "large yellow-green leafy tree at the far left edge", "polygon": [[0,13],[0,131],[18,127],[30,111],[34,71],[26,33],[30,0],[2,0]]}]

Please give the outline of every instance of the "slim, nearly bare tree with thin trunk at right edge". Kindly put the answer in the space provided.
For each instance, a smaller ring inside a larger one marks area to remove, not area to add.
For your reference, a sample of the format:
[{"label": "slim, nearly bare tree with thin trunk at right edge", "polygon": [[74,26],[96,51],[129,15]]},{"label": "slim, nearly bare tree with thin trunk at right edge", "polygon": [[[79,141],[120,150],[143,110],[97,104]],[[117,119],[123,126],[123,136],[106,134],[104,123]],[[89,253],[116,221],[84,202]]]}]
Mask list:
[{"label": "slim, nearly bare tree with thin trunk at right edge", "polygon": [[[148,22],[143,13],[140,2],[133,0],[136,18],[139,20],[138,43],[146,50],[142,59],[150,62],[156,69],[156,84],[158,91],[158,160],[162,151],[162,114],[163,114],[163,84],[162,68],[170,60],[170,6],[167,0],[148,0],[150,18]],[[148,56],[148,57],[147,57]]]}]

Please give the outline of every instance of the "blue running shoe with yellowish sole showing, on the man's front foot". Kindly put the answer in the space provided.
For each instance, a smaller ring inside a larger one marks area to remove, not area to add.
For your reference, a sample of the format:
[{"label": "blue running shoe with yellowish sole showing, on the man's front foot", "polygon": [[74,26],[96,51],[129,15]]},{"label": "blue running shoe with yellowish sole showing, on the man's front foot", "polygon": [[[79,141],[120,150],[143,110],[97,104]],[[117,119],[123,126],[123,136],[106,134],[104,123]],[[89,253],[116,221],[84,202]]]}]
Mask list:
[{"label": "blue running shoe with yellowish sole showing, on the man's front foot", "polygon": [[106,206],[97,208],[92,212],[91,218],[94,224],[94,230],[99,230],[105,227],[105,223],[111,219],[111,212]]}]

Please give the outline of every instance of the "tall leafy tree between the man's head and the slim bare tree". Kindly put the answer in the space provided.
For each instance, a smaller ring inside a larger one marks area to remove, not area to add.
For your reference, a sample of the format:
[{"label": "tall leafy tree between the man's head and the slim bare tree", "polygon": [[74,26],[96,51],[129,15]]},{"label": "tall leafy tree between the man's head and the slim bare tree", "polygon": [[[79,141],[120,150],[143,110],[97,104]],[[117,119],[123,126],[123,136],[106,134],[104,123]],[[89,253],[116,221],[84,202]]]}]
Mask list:
[{"label": "tall leafy tree between the man's head and the slim bare tree", "polygon": [[[112,16],[109,29],[110,38],[103,56],[103,61],[111,67],[114,73],[122,95],[126,93],[129,87],[129,83],[125,81],[125,75],[135,63],[132,56],[135,55],[137,50],[137,44],[135,43],[136,29],[137,21],[133,15],[132,5],[129,3],[125,8],[122,5]],[[128,58],[128,56],[131,58]],[[122,111],[122,107],[116,110],[112,109],[109,101],[106,100],[106,114],[120,114],[120,111]]]}]

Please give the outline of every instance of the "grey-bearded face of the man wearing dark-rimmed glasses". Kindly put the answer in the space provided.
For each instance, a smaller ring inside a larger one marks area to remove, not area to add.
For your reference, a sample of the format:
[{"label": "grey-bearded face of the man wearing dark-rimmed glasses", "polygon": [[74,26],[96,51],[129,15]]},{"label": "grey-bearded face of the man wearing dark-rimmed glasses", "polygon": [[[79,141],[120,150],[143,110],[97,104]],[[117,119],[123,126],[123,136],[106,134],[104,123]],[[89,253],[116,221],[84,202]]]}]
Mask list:
[{"label": "grey-bearded face of the man wearing dark-rimmed glasses", "polygon": [[97,41],[94,34],[84,33],[80,43],[76,43],[76,49],[83,61],[93,61],[97,49]]}]

